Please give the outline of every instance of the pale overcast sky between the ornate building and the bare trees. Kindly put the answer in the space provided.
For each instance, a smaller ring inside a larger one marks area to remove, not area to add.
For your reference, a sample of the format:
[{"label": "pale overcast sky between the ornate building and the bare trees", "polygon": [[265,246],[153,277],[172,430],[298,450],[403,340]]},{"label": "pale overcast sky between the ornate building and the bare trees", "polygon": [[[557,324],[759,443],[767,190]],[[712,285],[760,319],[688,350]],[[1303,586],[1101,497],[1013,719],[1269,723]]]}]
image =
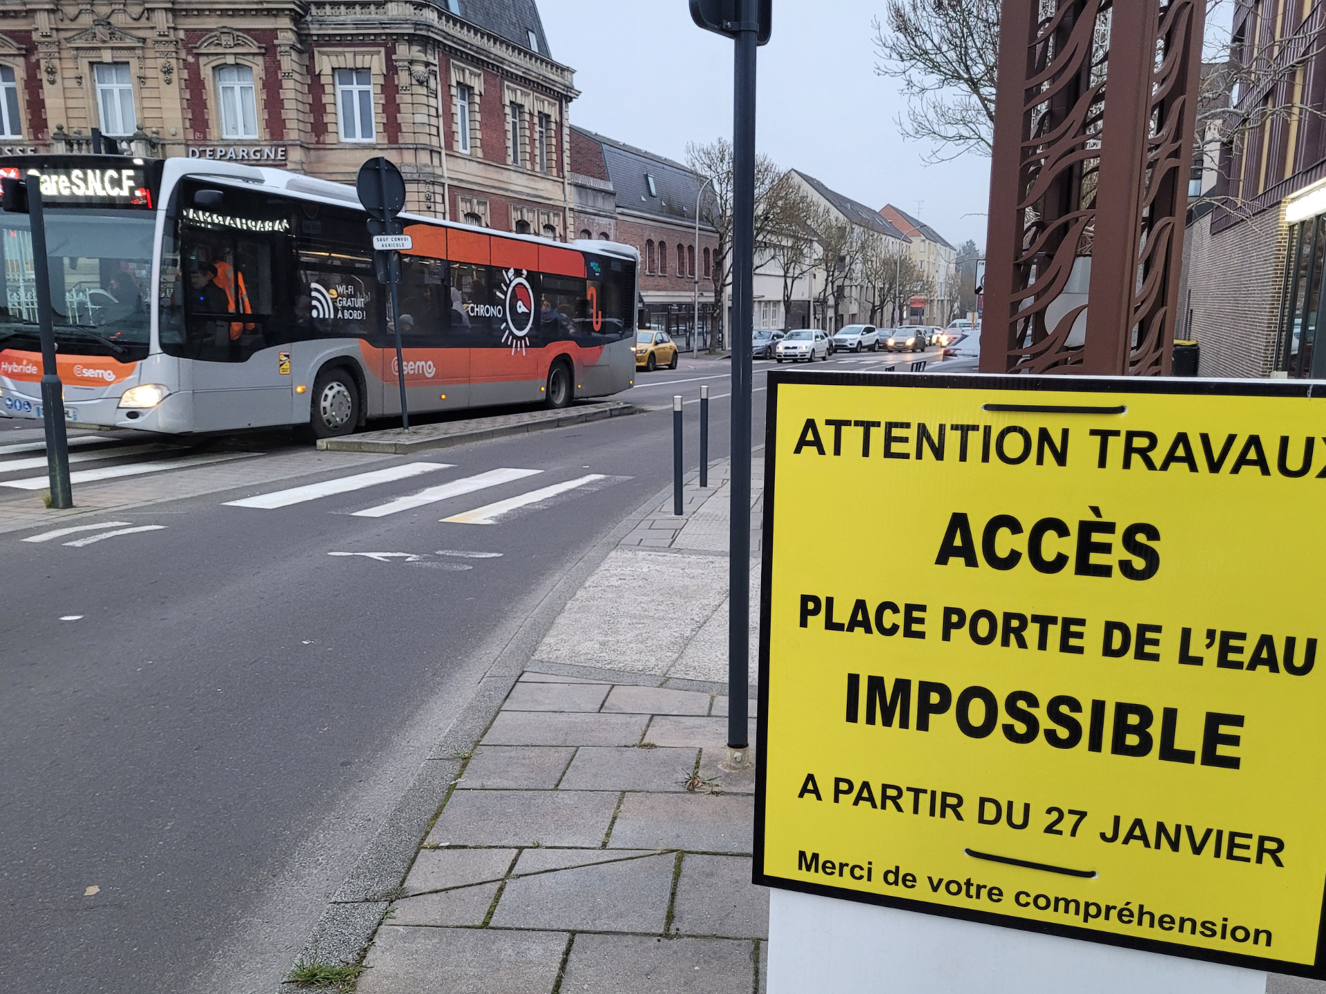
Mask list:
[{"label": "pale overcast sky between the ornate building and the bare trees", "polygon": [[[757,143],[874,208],[887,203],[953,245],[985,245],[989,159],[927,166],[894,123],[906,103],[875,76],[882,0],[776,0],[760,49]],[[700,30],[687,0],[538,0],[553,58],[575,70],[572,122],[684,160],[687,142],[732,135],[731,41]]]}]

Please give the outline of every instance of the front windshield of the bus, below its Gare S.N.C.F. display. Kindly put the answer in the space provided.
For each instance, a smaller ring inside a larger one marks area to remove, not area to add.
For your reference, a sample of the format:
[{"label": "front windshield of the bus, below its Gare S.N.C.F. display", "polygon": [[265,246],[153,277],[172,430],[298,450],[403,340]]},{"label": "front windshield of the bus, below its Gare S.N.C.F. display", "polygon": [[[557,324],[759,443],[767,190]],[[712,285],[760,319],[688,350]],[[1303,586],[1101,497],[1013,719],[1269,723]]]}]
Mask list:
[{"label": "front windshield of the bus, below its Gare S.N.C.F. display", "polygon": [[[48,209],[50,306],[61,351],[143,359],[155,216]],[[28,215],[0,213],[0,349],[41,349]]]}]

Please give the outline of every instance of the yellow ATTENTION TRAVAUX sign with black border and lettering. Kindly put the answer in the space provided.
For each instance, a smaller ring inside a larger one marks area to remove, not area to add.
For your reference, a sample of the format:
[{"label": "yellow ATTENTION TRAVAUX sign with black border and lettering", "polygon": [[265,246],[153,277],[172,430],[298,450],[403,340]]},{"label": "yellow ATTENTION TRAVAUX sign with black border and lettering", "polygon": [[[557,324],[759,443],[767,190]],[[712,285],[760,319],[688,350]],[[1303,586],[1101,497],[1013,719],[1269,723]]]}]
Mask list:
[{"label": "yellow ATTENTION TRAVAUX sign with black border and lettering", "polygon": [[1326,975],[1326,398],[769,379],[757,881]]}]

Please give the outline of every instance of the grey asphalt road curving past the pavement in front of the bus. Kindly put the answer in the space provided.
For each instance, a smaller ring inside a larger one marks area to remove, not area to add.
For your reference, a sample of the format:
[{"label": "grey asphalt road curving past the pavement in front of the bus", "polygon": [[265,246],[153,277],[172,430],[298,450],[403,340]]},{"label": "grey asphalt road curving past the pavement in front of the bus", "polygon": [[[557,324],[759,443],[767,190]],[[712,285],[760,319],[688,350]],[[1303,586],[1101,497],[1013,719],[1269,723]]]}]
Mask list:
[{"label": "grey asphalt road curving past the pavement in front of the bus", "polygon": [[[770,367],[756,363],[756,445]],[[81,547],[0,535],[0,986],[271,990],[493,640],[670,482],[662,408],[705,383],[721,459],[728,366],[683,359],[623,395],[650,414],[117,512],[103,520],[156,527]],[[684,410],[691,469],[699,406]],[[277,439],[267,459],[298,451]],[[418,461],[455,468],[224,504]],[[540,472],[354,514],[500,468]],[[587,474],[603,478],[495,525],[440,521]]]}]

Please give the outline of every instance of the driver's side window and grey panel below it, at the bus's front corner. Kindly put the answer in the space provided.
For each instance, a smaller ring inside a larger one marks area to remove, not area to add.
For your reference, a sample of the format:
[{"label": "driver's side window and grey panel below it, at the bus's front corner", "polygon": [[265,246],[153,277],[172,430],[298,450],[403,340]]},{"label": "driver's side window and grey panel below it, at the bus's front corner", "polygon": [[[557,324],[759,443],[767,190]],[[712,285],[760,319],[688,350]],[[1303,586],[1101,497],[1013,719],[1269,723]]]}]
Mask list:
[{"label": "driver's side window and grey panel below it, at the bus's front corner", "polygon": [[182,184],[178,243],[166,247],[178,256],[163,266],[176,285],[163,293],[162,347],[194,360],[182,364],[194,429],[289,424],[289,203],[227,188],[202,209],[192,195]]}]

